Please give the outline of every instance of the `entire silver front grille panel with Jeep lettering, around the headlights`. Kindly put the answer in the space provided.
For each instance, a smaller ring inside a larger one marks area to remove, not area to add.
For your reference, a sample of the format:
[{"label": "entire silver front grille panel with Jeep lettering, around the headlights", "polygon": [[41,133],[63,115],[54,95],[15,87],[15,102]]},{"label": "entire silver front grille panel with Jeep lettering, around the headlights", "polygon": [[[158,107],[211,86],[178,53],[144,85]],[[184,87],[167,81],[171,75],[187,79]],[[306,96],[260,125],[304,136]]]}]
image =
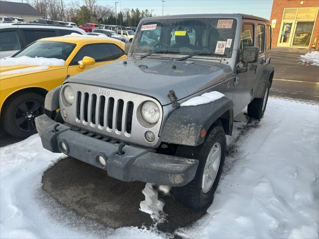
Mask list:
[{"label": "entire silver front grille panel with Jeep lettering, around the headlights", "polygon": [[[60,108],[67,111],[67,118],[63,117],[66,123],[120,141],[149,147],[158,145],[163,113],[162,106],[154,98],[71,82],[65,83],[60,92],[63,92],[65,86],[70,86],[74,92],[72,105],[67,104],[60,94]],[[160,109],[158,123],[150,124],[143,119],[141,107],[146,101],[158,105]],[[152,131],[156,135],[154,142],[146,141],[147,131]]]}]

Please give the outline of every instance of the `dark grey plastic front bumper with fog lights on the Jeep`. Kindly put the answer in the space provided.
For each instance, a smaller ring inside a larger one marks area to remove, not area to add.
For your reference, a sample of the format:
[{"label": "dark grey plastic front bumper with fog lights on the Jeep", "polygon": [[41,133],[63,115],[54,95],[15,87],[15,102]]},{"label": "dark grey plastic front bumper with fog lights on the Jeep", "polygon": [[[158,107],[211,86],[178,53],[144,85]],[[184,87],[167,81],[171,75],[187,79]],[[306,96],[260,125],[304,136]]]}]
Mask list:
[{"label": "dark grey plastic front bumper with fog lights on the Jeep", "polygon": [[[35,125],[45,149],[60,153],[100,167],[108,175],[121,181],[141,181],[180,187],[195,176],[198,160],[159,154],[151,149],[125,145],[120,155],[119,145],[93,138],[57,123],[46,115],[35,118]],[[67,146],[61,147],[61,142]],[[98,163],[103,156],[106,166]]]}]

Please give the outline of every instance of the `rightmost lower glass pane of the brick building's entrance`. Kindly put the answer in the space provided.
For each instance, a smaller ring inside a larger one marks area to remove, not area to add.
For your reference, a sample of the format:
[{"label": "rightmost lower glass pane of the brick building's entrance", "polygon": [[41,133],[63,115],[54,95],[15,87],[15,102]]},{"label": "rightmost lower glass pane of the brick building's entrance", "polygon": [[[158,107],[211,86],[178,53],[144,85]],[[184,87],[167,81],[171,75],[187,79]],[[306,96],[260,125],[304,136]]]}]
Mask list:
[{"label": "rightmost lower glass pane of the brick building's entrance", "polygon": [[292,46],[308,47],[315,21],[296,21]]}]

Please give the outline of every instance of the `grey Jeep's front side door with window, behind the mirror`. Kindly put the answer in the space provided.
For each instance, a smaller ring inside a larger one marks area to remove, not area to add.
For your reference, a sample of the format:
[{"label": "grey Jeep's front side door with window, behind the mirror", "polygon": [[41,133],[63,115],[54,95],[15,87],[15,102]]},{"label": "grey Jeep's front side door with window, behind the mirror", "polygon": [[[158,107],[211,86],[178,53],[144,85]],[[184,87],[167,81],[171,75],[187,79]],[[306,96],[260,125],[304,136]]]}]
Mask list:
[{"label": "grey Jeep's front side door with window, behind the mirror", "polygon": [[[242,62],[242,52],[244,47],[254,46],[255,44],[255,22],[243,21],[242,31],[240,35],[240,46],[237,57],[237,67],[244,67]],[[243,73],[237,73],[234,80],[234,116],[240,113],[250,102],[251,92],[253,88],[253,80],[255,70],[252,63],[247,65],[247,71]]]}]

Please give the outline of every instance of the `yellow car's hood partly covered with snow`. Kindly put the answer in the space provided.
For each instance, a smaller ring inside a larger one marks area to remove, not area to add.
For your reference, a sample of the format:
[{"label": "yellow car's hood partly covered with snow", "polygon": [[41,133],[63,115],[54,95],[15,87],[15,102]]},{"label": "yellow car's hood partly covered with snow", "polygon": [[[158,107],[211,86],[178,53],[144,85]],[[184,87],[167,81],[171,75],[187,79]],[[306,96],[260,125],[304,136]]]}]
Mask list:
[{"label": "yellow car's hood partly covered with snow", "polygon": [[0,67],[0,79],[22,76],[30,73],[44,71],[53,66],[12,65]]}]

